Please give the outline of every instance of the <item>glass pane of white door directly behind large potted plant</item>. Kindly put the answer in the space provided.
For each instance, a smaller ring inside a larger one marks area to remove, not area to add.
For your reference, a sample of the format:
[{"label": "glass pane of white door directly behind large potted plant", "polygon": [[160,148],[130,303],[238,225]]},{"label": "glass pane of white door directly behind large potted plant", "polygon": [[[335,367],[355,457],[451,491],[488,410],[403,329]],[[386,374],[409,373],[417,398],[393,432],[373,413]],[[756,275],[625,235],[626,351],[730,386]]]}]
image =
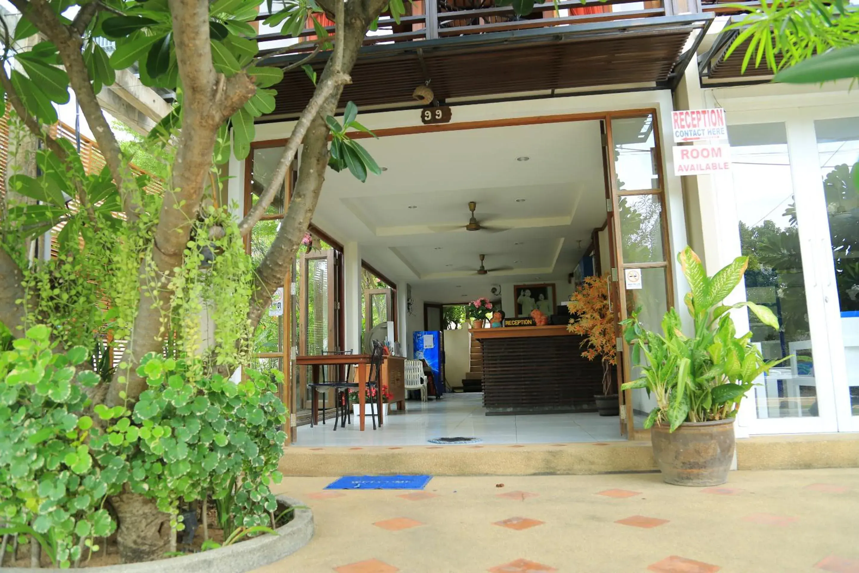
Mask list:
[{"label": "glass pane of white door directly behind large potted plant", "polygon": [[758,418],[818,416],[805,276],[784,124],[728,127],[740,246],[749,258],[746,300],[769,307],[779,330],[749,313],[752,342],[771,369],[755,392]]}]

